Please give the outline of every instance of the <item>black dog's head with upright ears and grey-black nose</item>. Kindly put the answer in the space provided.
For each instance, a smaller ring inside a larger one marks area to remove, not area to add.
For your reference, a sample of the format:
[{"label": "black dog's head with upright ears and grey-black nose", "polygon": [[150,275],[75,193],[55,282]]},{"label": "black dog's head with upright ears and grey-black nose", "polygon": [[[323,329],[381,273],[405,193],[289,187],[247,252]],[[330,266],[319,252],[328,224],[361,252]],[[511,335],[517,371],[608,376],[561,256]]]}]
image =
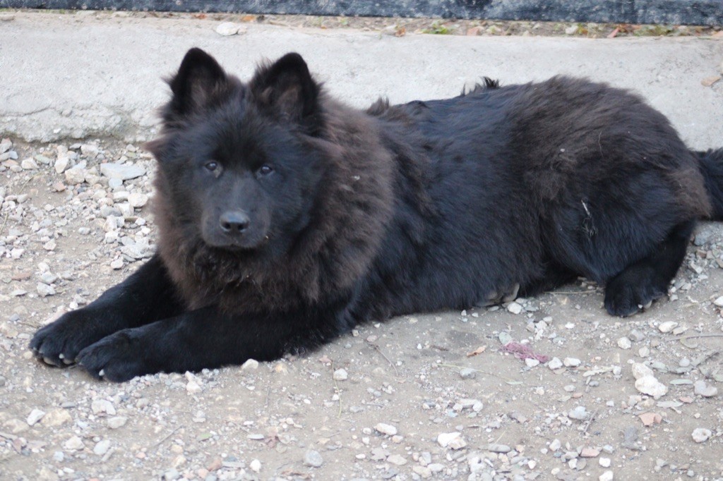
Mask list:
[{"label": "black dog's head with upright ears and grey-black nose", "polygon": [[184,238],[225,251],[273,254],[309,223],[321,172],[305,139],[322,126],[320,86],[297,53],[248,83],[192,48],[168,80],[159,162],[159,217]]}]

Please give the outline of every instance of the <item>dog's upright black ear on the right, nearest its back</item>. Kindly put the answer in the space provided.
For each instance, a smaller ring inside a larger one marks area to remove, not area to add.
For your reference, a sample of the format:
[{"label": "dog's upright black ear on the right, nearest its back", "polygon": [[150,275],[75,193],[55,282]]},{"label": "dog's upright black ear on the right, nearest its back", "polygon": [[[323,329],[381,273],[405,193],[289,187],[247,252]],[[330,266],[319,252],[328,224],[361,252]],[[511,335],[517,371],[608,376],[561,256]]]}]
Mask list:
[{"label": "dog's upright black ear on the right, nearest its back", "polygon": [[257,70],[249,86],[254,100],[282,116],[299,121],[317,111],[320,86],[299,53],[287,53]]}]

